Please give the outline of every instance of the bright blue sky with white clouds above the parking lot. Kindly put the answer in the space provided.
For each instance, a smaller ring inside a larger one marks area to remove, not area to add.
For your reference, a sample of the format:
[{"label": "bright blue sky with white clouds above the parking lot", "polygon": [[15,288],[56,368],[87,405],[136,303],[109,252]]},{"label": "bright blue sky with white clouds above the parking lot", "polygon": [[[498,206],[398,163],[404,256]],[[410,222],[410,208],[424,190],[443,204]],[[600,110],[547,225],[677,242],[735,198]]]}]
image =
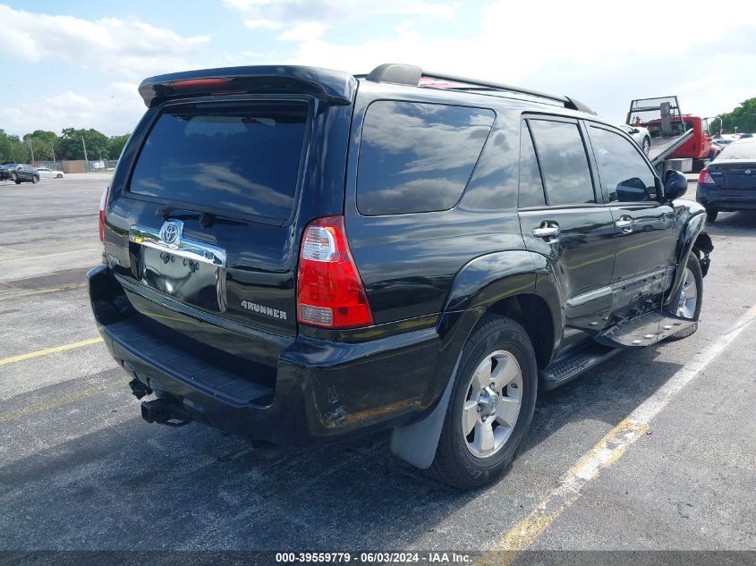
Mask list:
[{"label": "bright blue sky with white clouds above the parking lot", "polygon": [[614,122],[633,98],[677,95],[684,114],[713,116],[756,97],[754,0],[0,0],[0,26],[0,129],[19,135],[128,133],[144,78],[266,63],[418,64],[574,97]]}]

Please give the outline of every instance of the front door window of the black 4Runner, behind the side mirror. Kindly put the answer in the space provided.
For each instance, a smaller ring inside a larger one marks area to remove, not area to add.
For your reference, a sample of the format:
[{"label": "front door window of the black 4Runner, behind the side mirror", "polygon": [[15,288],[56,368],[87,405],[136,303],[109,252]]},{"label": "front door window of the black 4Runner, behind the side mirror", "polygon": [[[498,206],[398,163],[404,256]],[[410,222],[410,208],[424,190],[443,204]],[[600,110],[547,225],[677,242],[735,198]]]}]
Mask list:
[{"label": "front door window of the black 4Runner, behind the side mirror", "polygon": [[656,176],[633,142],[614,131],[590,126],[590,143],[610,202],[656,199]]}]

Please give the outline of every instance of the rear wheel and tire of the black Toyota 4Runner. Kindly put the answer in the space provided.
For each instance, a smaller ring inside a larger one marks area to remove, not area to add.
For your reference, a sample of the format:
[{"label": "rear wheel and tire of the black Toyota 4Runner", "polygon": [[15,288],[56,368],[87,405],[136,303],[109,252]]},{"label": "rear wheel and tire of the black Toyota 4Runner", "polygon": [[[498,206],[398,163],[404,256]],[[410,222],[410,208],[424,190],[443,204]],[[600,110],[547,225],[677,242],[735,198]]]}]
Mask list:
[{"label": "rear wheel and tire of the black Toyota 4Runner", "polygon": [[[491,382],[482,386],[477,376],[485,376],[487,367],[484,381]],[[464,346],[431,476],[459,489],[485,486],[501,476],[531,426],[537,391],[538,368],[528,334],[511,318],[485,315]],[[510,401],[504,403],[504,398]]]}]

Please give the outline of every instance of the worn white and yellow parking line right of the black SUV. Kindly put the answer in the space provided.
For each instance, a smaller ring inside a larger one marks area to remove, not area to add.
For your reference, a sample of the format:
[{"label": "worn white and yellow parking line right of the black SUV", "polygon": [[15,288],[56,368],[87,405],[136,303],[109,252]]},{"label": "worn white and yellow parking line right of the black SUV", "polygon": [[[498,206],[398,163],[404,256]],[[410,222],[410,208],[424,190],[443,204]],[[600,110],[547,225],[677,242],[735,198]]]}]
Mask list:
[{"label": "worn white and yellow parking line right of the black SUV", "polygon": [[497,551],[505,554],[483,555],[480,562],[495,560],[498,564],[511,564],[517,556],[530,546],[538,536],[564,513],[580,497],[582,488],[591,480],[599,477],[619,460],[627,448],[646,433],[650,420],[667,407],[685,385],[691,383],[695,376],[717,359],[718,356],[735,341],[743,331],[756,320],[756,305],[749,308],[738,318],[735,325],[723,334],[708,349],[693,356],[690,363],[678,370],[667,383],[643,401],[627,418],[610,430],[598,444],[578,460],[572,469],[562,478],[559,486],[544,497],[531,513],[517,523],[504,538],[497,542]]}]

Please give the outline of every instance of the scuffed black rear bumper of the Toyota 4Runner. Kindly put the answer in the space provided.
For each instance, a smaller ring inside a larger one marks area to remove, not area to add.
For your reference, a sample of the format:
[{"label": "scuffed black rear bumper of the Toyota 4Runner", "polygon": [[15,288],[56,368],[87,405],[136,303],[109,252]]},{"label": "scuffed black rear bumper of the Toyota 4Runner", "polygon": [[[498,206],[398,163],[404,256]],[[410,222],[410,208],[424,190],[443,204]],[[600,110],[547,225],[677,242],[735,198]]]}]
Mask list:
[{"label": "scuffed black rear bumper of the Toyota 4Runner", "polygon": [[271,369],[275,379],[266,382],[195,357],[140,325],[128,308],[116,308],[118,283],[106,266],[88,277],[99,332],[126,372],[177,412],[235,435],[285,446],[324,444],[409,422],[440,395],[432,378],[440,347],[435,328],[360,343],[300,335],[281,351]]}]

